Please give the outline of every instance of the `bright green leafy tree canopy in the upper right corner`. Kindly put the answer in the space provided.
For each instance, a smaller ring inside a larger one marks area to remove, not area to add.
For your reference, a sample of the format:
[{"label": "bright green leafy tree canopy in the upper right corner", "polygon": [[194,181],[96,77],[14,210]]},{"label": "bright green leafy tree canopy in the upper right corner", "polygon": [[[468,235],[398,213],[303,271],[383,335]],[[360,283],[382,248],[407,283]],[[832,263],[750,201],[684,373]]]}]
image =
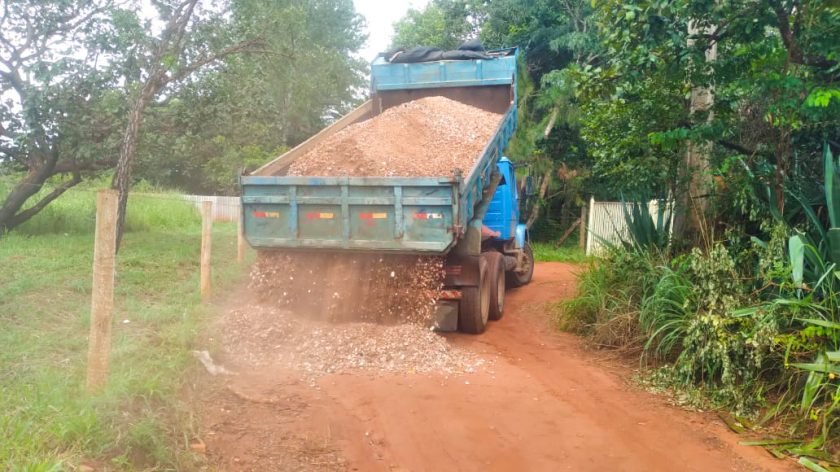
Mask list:
[{"label": "bright green leafy tree canopy in the upper right corner", "polygon": [[[653,112],[672,117],[634,131],[647,136],[662,158],[670,158],[665,156],[671,151],[681,153],[689,142],[710,145],[708,178],[718,184],[702,198],[718,212],[729,211],[722,205],[727,200],[737,205],[730,209],[747,210],[752,217],[761,217],[756,206],[784,211],[786,189],[813,175],[809,169],[818,166],[820,139],[837,133],[840,99],[828,97],[837,90],[838,8],[826,2],[775,0],[609,1],[599,4],[597,17],[607,62],[585,80],[589,92],[600,91],[598,97],[590,96],[593,106],[620,100],[632,116]],[[712,48],[718,57],[707,62]],[[639,89],[649,81],[666,88]],[[691,86],[713,87],[713,106],[692,113]],[[667,89],[674,91],[671,100],[661,97]],[[627,122],[613,118],[613,123]],[[618,142],[607,138],[614,130],[592,131],[605,144]],[[605,151],[621,155],[609,144]],[[702,170],[680,172],[686,178],[677,182],[675,194],[686,193],[688,183],[698,181],[692,175],[696,172]],[[735,182],[747,186],[733,188]],[[761,187],[769,191],[757,191]]]}]

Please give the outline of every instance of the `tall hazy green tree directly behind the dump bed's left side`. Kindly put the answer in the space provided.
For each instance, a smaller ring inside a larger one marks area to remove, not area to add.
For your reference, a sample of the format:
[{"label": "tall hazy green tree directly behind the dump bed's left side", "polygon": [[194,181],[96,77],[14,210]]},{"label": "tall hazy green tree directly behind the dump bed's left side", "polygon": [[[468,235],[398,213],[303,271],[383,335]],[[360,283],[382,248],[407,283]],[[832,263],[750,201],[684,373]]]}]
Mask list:
[{"label": "tall hazy green tree directly behind the dump bed's left side", "polygon": [[236,28],[265,42],[224,58],[147,109],[134,175],[192,193],[238,192],[237,177],[363,100],[365,40],[349,0],[238,0]]}]

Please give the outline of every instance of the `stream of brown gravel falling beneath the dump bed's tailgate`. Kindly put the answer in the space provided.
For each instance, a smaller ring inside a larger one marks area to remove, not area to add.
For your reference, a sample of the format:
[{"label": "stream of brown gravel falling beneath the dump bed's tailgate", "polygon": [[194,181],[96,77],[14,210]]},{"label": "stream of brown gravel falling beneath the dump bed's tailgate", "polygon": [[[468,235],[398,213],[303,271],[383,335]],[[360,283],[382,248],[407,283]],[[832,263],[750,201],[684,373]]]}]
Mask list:
[{"label": "stream of brown gravel falling beneath the dump bed's tailgate", "polygon": [[311,319],[425,325],[443,276],[440,257],[267,252],[251,268],[250,288]]}]

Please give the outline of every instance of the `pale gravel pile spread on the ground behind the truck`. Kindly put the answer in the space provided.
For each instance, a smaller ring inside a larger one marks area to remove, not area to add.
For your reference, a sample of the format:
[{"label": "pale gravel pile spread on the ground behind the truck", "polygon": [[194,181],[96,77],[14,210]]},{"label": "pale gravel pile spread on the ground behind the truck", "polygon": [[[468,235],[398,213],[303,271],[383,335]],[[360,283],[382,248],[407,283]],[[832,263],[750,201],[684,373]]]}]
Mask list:
[{"label": "pale gravel pile spread on the ground behind the truck", "polygon": [[471,373],[485,364],[417,324],[331,323],[262,304],[227,314],[222,346],[238,362],[290,368],[311,381],[358,370]]}]

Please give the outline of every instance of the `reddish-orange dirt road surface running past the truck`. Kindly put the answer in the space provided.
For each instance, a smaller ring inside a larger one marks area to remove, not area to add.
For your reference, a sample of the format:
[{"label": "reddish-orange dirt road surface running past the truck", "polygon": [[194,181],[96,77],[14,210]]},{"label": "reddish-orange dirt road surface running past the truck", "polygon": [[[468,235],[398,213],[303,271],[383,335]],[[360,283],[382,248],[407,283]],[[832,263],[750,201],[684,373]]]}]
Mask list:
[{"label": "reddish-orange dirt road surface running past the truck", "polygon": [[350,373],[314,387],[277,369],[208,376],[209,470],[797,470],[556,332],[546,304],[573,294],[574,270],[538,264],[485,334],[447,335],[491,361],[474,373]]}]

